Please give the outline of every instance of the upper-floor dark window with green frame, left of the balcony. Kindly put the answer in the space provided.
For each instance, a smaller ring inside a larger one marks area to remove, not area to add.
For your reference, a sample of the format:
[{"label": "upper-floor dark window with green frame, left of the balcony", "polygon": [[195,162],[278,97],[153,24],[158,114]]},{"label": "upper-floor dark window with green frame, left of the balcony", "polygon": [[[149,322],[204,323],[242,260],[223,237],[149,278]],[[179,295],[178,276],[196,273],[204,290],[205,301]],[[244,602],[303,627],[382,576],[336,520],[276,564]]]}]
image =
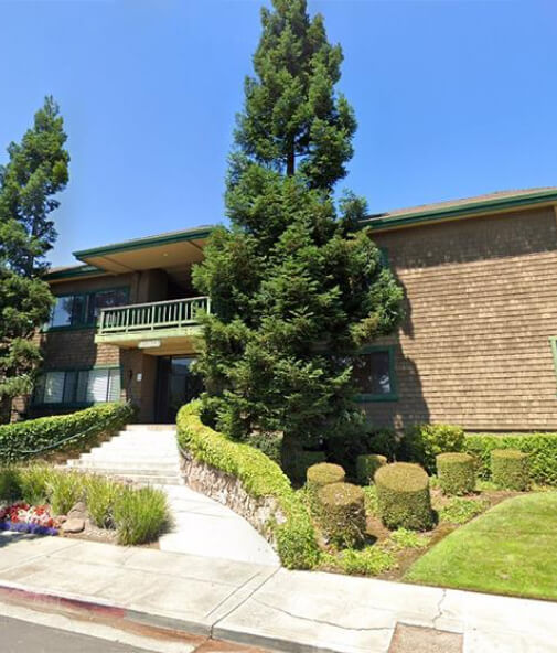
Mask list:
[{"label": "upper-floor dark window with green frame, left of the balcony", "polygon": [[94,326],[100,309],[128,303],[129,288],[108,288],[56,297],[46,329]]}]

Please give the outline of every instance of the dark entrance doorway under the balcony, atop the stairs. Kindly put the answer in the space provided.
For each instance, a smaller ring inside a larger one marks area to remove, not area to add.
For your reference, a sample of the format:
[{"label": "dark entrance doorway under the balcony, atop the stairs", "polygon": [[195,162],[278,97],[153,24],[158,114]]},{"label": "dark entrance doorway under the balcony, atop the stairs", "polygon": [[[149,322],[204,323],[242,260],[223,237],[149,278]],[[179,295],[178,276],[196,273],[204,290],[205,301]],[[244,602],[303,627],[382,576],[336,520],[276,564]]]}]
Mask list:
[{"label": "dark entrance doorway under the balcony, atop the stairs", "polygon": [[161,356],[157,371],[156,419],[174,424],[176,413],[203,392],[203,382],[192,372],[195,356]]}]

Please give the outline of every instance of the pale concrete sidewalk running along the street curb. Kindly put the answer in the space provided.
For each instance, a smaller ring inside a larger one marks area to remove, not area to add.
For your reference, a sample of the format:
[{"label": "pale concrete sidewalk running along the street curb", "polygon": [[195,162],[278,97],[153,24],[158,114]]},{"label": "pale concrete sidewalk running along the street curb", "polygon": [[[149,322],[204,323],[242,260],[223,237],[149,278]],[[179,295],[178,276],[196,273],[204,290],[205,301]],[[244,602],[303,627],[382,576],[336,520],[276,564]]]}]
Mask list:
[{"label": "pale concrete sidewalk running along the street curb", "polygon": [[10,593],[288,652],[557,653],[557,603],[2,533]]}]

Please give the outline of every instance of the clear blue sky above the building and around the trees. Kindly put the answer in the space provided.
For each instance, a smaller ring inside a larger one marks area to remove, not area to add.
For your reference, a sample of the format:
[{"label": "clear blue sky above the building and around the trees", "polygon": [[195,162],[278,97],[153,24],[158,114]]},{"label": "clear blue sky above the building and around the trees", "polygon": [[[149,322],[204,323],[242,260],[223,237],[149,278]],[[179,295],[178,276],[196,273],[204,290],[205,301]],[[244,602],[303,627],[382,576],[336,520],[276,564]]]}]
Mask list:
[{"label": "clear blue sky above the building and around the trees", "polygon": [[[0,0],[0,162],[46,94],[72,156],[50,259],[222,222],[260,0]],[[557,184],[557,3],[309,0],[355,108],[372,211]]]}]

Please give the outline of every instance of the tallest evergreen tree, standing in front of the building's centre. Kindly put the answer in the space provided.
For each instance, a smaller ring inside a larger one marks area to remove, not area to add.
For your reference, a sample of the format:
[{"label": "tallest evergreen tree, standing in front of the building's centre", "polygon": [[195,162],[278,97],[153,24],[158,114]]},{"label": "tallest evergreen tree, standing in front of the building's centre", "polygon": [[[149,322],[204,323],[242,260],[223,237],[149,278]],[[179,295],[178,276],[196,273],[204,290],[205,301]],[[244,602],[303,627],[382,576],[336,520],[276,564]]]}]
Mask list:
[{"label": "tallest evergreen tree, standing in front of the building's centre", "polygon": [[356,129],[334,89],[341,47],[306,0],[272,7],[237,118],[232,229],[213,232],[193,274],[213,306],[199,370],[205,414],[229,436],[279,430],[311,445],[362,427],[353,356],[397,326],[401,289],[360,228],[365,202],[335,205]]}]

